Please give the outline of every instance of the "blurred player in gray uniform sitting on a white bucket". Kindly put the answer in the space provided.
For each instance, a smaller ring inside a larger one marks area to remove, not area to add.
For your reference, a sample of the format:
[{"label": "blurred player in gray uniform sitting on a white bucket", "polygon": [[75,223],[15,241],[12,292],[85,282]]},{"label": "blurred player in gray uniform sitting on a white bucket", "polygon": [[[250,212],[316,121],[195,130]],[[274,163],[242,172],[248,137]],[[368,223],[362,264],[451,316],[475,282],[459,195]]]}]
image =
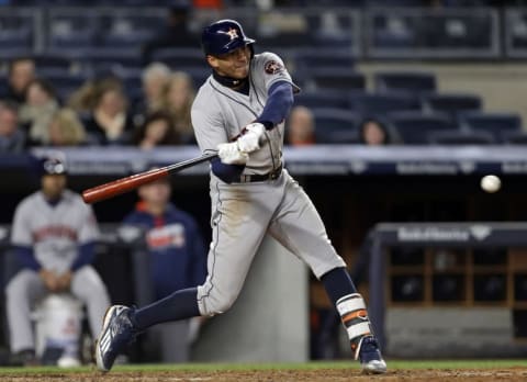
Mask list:
[{"label": "blurred player in gray uniform sitting on a white bucket", "polygon": [[66,189],[60,159],[40,159],[38,167],[41,190],[25,198],[14,213],[11,243],[22,270],[5,289],[11,352],[23,363],[33,363],[35,357],[31,308],[47,293],[69,292],[79,299],[88,308],[93,336],[110,303],[90,266],[99,236],[91,207]]}]

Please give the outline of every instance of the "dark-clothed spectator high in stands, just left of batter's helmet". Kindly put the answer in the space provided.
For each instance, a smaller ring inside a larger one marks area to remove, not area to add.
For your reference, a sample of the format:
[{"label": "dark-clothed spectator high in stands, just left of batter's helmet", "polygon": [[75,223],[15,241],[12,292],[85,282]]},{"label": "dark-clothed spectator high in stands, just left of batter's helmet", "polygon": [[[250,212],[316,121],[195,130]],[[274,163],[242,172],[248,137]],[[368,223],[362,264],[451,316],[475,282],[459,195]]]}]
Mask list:
[{"label": "dark-clothed spectator high in stands, just left of batter's helmet", "polygon": [[159,48],[195,47],[197,37],[189,30],[188,5],[173,5],[169,10],[167,24],[143,47],[143,60],[149,63],[152,53]]}]

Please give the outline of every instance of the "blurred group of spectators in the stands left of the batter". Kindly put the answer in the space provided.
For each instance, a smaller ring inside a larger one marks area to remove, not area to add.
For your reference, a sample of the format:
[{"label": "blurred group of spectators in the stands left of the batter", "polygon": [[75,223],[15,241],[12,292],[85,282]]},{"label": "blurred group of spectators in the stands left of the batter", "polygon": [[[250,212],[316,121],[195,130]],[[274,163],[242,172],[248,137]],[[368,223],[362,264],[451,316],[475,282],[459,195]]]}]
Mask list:
[{"label": "blurred group of spectators in the stands left of the batter", "polygon": [[143,97],[132,104],[112,75],[87,81],[59,100],[53,83],[36,76],[31,58],[9,65],[0,101],[0,151],[33,146],[134,145],[149,149],[193,141],[191,78],[154,63],[142,76]]}]

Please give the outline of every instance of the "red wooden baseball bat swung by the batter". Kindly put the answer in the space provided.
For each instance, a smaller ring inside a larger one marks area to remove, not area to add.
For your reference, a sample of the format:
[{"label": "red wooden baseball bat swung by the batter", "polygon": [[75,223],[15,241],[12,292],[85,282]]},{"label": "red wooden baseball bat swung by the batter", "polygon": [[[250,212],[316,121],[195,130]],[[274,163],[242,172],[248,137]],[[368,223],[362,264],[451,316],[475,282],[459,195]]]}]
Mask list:
[{"label": "red wooden baseball bat swung by the batter", "polygon": [[183,160],[173,165],[139,172],[126,178],[121,178],[82,192],[85,203],[97,203],[122,193],[137,189],[138,187],[168,177],[171,173],[181,171],[186,168],[199,165],[201,162],[214,159],[216,153],[203,154],[201,157]]}]

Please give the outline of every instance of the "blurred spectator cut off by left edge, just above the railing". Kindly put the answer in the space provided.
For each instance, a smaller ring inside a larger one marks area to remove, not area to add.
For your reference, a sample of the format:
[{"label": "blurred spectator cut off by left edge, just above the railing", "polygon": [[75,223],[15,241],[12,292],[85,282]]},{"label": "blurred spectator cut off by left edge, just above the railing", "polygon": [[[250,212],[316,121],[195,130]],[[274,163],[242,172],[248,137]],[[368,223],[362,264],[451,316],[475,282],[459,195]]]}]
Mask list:
[{"label": "blurred spectator cut off by left edge, just above the railing", "polygon": [[22,153],[25,134],[19,126],[19,109],[14,101],[0,101],[0,153]]}]

